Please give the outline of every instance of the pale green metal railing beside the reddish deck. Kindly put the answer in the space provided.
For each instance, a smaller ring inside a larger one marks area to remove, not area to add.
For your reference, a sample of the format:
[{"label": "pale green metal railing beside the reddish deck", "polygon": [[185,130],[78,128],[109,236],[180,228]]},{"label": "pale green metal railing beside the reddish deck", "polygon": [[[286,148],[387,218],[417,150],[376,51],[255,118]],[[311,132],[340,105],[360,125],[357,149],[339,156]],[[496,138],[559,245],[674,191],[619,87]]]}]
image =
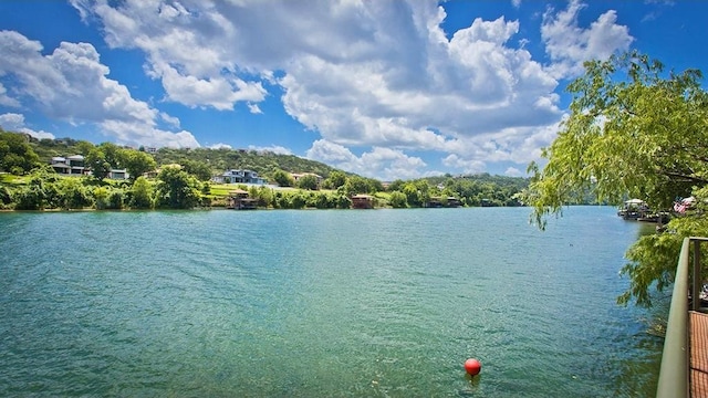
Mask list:
[{"label": "pale green metal railing beside the reddish deck", "polygon": [[690,294],[693,297],[691,310],[700,308],[700,292],[702,279],[700,277],[700,243],[708,242],[708,238],[685,238],[676,266],[674,293],[668,312],[666,325],[666,338],[662,355],[662,368],[656,388],[657,398],[690,397],[690,350],[688,338],[688,281],[690,244],[694,244],[694,266]]}]

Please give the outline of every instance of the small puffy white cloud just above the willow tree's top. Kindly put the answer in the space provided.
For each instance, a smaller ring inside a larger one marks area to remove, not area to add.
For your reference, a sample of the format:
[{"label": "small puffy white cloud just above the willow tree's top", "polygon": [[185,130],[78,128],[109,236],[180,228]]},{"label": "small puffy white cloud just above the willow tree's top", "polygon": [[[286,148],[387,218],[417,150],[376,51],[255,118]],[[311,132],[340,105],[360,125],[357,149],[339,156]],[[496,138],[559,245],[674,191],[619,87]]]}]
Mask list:
[{"label": "small puffy white cloud just above the willow tree's top", "polygon": [[574,77],[583,72],[583,62],[605,60],[617,51],[625,51],[634,41],[625,25],[617,24],[617,13],[610,10],[592,22],[589,29],[579,27],[577,17],[585,4],[572,0],[568,9],[543,17],[541,36],[553,61],[549,72],[556,78]]}]

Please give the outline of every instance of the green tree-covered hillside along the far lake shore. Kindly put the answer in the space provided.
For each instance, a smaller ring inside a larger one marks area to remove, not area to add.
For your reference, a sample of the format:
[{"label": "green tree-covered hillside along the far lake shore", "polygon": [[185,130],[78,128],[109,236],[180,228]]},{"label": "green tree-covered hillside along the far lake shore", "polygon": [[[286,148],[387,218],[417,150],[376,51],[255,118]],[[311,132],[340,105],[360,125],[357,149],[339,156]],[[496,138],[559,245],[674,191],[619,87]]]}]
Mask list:
[{"label": "green tree-covered hillside along the far lake shore", "polygon": [[[91,175],[66,176],[50,166],[53,157],[82,155]],[[124,169],[129,178],[112,179]],[[268,185],[216,184],[228,169],[249,169]],[[304,174],[295,181],[292,174]],[[320,178],[319,178],[319,177]],[[243,149],[171,149],[94,145],[72,138],[37,139],[0,129],[0,208],[192,209],[226,207],[229,192],[241,189],[270,209],[346,209],[351,197],[369,195],[377,208],[520,206],[528,179],[451,175],[384,184],[293,155]]]}]

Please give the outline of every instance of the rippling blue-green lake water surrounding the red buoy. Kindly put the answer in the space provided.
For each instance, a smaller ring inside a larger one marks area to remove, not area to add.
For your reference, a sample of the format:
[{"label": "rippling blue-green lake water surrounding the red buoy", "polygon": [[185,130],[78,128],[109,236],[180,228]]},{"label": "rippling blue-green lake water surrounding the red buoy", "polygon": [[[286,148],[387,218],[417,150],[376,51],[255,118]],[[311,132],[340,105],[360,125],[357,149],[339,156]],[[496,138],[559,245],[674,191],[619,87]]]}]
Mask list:
[{"label": "rippling blue-green lake water surrounding the red buoy", "polygon": [[0,213],[0,396],[654,396],[643,224],[529,212]]}]

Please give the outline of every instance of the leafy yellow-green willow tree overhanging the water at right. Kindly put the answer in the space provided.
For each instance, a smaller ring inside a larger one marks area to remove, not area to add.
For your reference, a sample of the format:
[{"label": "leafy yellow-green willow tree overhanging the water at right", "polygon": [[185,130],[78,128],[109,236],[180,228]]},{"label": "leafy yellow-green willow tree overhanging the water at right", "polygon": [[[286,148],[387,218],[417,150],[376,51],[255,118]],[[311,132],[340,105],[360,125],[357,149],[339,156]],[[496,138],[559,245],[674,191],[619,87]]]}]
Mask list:
[{"label": "leafy yellow-green willow tree overhanging the water at right", "polygon": [[701,207],[708,199],[708,95],[701,73],[665,73],[660,62],[632,52],[585,64],[572,82],[570,115],[542,156],[524,200],[541,228],[549,216],[579,202],[587,192],[601,202],[621,205],[632,197],[655,209],[669,209],[694,195],[698,206],[673,219],[668,233],[641,238],[627,251],[622,269],[629,276],[627,303],[650,305],[652,292],[674,281],[680,242],[708,235]]}]

